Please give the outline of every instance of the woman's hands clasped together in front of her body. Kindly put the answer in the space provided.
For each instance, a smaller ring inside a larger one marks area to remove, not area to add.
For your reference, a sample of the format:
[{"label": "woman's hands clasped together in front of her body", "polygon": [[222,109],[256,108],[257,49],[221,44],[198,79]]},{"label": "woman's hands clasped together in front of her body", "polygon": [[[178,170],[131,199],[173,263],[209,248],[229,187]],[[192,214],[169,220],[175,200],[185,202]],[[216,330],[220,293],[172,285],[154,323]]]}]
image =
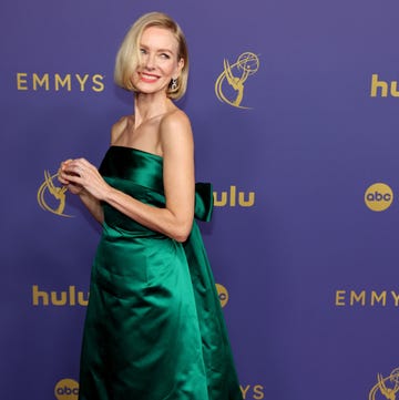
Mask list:
[{"label": "woman's hands clasped together in front of her body", "polygon": [[98,168],[85,158],[66,160],[61,163],[59,181],[73,194],[83,191],[102,201],[110,191],[110,185],[100,175]]}]

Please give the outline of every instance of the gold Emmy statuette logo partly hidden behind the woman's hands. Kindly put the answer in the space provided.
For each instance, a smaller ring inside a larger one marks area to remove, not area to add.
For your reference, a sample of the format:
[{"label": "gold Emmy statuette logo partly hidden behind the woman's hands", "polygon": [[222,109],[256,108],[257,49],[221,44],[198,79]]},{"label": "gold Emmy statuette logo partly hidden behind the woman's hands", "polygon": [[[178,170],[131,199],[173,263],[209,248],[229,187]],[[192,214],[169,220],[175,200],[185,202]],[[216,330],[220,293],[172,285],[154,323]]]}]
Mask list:
[{"label": "gold Emmy statuette logo partly hidden behind the woman's hands", "polygon": [[38,191],[39,205],[53,214],[62,217],[71,217],[72,215],[63,214],[65,208],[65,186],[55,186],[53,180],[58,174],[51,175],[49,171],[44,171],[44,182]]}]

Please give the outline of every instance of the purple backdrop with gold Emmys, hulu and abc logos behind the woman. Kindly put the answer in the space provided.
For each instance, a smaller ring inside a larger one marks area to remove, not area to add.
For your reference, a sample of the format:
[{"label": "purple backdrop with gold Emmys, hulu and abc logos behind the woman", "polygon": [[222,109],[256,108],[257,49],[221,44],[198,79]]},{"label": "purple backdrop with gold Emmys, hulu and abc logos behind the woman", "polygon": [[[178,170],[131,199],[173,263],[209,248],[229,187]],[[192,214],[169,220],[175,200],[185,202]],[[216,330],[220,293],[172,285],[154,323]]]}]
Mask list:
[{"label": "purple backdrop with gold Emmys, hulu and abc logos behind the woman", "polygon": [[55,175],[69,157],[99,165],[132,113],[114,58],[155,10],[188,41],[178,105],[214,185],[201,228],[243,399],[399,398],[398,1],[14,0],[0,6],[1,399],[78,399],[100,227]]}]

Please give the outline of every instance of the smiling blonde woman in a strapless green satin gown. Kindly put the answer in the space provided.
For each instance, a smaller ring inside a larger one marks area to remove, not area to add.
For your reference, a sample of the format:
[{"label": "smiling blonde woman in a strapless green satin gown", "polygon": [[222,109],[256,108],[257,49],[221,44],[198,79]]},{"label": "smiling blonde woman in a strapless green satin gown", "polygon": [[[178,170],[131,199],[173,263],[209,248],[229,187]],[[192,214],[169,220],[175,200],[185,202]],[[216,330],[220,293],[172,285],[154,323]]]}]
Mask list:
[{"label": "smiling blonde woman in a strapless green satin gown", "polygon": [[80,372],[81,400],[242,399],[212,271],[194,216],[208,220],[212,187],[194,181],[180,27],[152,12],[127,32],[115,82],[133,115],[111,132],[98,171],[61,164],[103,233],[93,263]]}]

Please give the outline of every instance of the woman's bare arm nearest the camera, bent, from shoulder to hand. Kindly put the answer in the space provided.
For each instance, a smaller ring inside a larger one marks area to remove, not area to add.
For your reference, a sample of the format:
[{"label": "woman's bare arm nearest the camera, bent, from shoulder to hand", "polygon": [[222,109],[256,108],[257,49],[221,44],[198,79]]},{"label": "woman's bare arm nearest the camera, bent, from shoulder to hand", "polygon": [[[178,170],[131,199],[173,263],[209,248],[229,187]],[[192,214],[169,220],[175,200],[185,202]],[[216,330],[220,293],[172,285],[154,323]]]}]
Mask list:
[{"label": "woman's bare arm nearest the camera, bent, from shoulder to hand", "polygon": [[193,225],[195,196],[194,144],[187,116],[176,111],[164,117],[160,125],[160,140],[164,163],[164,208],[144,204],[108,185],[84,158],[70,162],[65,173],[73,174],[70,181],[84,187],[98,202],[106,202],[150,229],[184,242]]}]

